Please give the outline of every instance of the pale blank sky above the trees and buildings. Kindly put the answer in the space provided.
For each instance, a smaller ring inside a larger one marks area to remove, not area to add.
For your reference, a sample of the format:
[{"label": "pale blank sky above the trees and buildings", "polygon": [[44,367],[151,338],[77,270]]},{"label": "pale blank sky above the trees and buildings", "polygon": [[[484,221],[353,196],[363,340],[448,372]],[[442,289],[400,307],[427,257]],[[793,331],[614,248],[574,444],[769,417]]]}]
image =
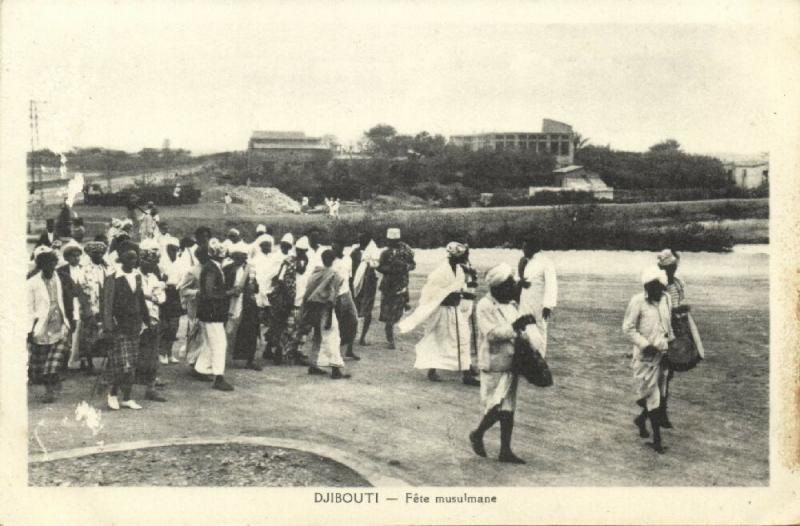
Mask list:
[{"label": "pale blank sky above the trees and buildings", "polygon": [[378,123],[453,135],[542,118],[617,149],[769,149],[775,57],[746,10],[574,22],[533,2],[425,5],[17,2],[4,72],[25,112],[43,101],[39,144],[56,151],[243,150],[257,129],[348,144]]}]

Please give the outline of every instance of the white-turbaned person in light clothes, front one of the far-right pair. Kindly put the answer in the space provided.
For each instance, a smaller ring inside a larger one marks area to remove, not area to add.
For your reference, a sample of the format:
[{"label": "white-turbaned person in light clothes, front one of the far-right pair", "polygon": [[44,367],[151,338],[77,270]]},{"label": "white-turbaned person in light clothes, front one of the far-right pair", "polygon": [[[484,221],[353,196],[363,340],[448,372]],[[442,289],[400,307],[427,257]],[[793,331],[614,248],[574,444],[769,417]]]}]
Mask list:
[{"label": "white-turbaned person in light clothes, front one of the far-right pair", "polygon": [[653,441],[648,445],[663,453],[661,423],[667,388],[667,371],[663,362],[669,342],[675,338],[672,305],[669,295],[664,293],[667,275],[663,270],[655,265],[645,268],[641,282],[644,292],[631,298],[622,322],[622,332],[633,343],[634,390],[636,403],[642,408],[634,423],[639,428],[639,436],[647,438],[649,433],[645,422],[650,419]]}]

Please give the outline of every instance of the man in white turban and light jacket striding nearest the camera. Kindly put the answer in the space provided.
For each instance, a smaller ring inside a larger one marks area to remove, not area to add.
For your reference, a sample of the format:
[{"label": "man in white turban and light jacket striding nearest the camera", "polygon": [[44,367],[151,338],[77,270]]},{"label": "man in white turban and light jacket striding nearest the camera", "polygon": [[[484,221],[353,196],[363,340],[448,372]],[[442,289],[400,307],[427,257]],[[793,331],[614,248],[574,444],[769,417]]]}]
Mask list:
[{"label": "man in white turban and light jacket striding nearest the camera", "polygon": [[513,301],[517,284],[511,267],[500,264],[486,274],[489,294],[476,308],[478,320],[478,367],[481,375],[481,408],[483,416],[475,431],[469,434],[472,450],[486,456],[483,435],[500,422],[500,462],[524,464],[511,451],[514,412],[517,406],[518,375],[511,369],[514,345],[524,338],[534,349],[542,346],[542,337],[532,314],[522,314]]}]

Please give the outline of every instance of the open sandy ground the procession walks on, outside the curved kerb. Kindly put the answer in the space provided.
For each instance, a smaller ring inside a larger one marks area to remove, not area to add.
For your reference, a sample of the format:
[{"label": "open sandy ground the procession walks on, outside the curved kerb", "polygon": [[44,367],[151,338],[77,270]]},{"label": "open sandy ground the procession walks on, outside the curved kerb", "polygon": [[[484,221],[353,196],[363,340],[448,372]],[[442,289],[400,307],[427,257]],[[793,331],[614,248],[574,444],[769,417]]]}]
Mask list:
[{"label": "open sandy ground the procession walks on, outside the curved kerb", "polygon": [[[615,256],[616,254],[616,256]],[[623,254],[620,256],[619,254]],[[589,257],[589,256],[592,257]],[[412,303],[440,254],[420,254]],[[481,269],[511,251],[475,251]],[[233,393],[189,379],[187,367],[162,367],[169,402],[143,411],[105,410],[97,437],[74,421],[92,380],[73,374],[60,400],[38,402],[30,388],[30,451],[187,436],[271,436],[319,441],[384,466],[386,475],[442,486],[742,486],[768,484],[769,311],[767,256],[751,251],[685,257],[689,301],[702,331],[706,360],[672,384],[665,455],[638,438],[631,420],[631,347],[620,325],[639,290],[646,253],[553,254],[560,299],[548,348],[555,385],[520,386],[514,449],[525,466],[499,464],[499,430],[489,431],[489,458],[476,457],[467,433],[480,418],[478,389],[455,373],[434,384],[412,368],[420,332],[399,349],[383,345],[374,325],[353,378],[309,377],[300,367],[262,372],[231,368]],[[612,264],[613,263],[613,264]],[[377,314],[377,312],[376,312]],[[377,316],[376,316],[377,317]],[[137,388],[141,389],[141,388]],[[139,392],[139,391],[137,391]],[[36,435],[36,437],[34,436]],[[165,469],[168,469],[165,466]]]}]

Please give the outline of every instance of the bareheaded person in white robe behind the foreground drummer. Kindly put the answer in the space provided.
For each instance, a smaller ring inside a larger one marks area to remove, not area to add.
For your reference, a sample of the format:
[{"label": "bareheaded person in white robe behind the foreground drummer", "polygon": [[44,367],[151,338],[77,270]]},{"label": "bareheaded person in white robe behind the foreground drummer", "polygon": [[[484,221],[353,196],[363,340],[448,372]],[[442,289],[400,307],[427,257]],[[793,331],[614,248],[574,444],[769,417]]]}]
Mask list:
[{"label": "bareheaded person in white robe behind the foreground drummer", "polygon": [[522,247],[524,256],[519,261],[518,273],[522,285],[519,298],[520,312],[532,314],[542,333],[542,357],[547,354],[547,325],[556,308],[558,280],[553,261],[541,253],[539,243],[528,239]]}]

